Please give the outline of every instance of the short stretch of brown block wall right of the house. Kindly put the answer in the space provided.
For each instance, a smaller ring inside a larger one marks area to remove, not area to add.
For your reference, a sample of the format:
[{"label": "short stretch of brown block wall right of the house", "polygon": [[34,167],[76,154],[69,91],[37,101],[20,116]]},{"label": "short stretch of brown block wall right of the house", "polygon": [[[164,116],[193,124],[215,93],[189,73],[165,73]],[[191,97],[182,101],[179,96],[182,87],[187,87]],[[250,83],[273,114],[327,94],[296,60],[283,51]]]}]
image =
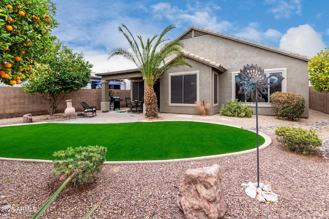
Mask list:
[{"label": "short stretch of brown block wall right of the house", "polygon": [[329,93],[318,93],[309,87],[309,108],[329,114]]}]

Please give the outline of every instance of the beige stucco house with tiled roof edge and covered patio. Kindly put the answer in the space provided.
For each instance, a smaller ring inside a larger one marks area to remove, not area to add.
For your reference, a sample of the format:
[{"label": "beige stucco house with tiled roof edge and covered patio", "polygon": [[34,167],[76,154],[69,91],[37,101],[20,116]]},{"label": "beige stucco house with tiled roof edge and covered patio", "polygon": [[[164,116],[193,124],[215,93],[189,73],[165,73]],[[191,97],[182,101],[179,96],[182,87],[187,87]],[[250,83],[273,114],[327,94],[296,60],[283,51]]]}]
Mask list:
[{"label": "beige stucco house with tiled roof edge and covered patio", "polygon": [[[184,55],[192,68],[170,68],[159,79],[154,89],[159,111],[166,113],[198,114],[195,101],[210,103],[208,115],[218,113],[227,99],[239,99],[251,107],[255,104],[238,94],[237,73],[247,64],[257,64],[265,73],[280,73],[284,77],[274,91],[297,92],[306,99],[303,117],[308,117],[308,72],[310,57],[247,39],[191,26],[177,37],[184,44]],[[175,58],[175,57],[172,57]],[[168,61],[170,62],[170,60]],[[131,79],[131,97],[141,99],[146,84],[138,69],[99,73],[102,82],[101,110],[109,110],[108,81]],[[259,114],[273,115],[269,96],[260,102]]]}]

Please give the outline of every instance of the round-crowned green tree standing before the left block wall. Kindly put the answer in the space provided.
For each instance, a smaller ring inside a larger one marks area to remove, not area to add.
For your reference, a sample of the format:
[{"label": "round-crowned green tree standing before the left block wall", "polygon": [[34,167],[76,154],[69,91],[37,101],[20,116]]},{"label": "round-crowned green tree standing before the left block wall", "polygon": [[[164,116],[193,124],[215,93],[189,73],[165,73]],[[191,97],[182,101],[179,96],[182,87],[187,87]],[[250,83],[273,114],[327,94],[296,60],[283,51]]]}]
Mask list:
[{"label": "round-crowned green tree standing before the left block wall", "polygon": [[83,59],[82,53],[73,53],[60,43],[54,43],[41,59],[44,64],[38,65],[23,85],[23,90],[45,98],[50,105],[49,115],[52,116],[68,93],[87,85],[93,65]]}]

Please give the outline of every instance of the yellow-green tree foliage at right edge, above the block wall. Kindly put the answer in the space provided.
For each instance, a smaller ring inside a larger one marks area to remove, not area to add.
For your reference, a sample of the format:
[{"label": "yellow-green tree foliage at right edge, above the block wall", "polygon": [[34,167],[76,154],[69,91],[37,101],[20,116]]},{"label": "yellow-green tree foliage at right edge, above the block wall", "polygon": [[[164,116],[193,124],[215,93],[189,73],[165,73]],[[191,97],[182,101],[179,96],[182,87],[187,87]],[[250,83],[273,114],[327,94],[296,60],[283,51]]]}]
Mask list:
[{"label": "yellow-green tree foliage at right edge, above the block wall", "polygon": [[329,47],[310,59],[308,73],[314,90],[319,93],[329,92]]}]

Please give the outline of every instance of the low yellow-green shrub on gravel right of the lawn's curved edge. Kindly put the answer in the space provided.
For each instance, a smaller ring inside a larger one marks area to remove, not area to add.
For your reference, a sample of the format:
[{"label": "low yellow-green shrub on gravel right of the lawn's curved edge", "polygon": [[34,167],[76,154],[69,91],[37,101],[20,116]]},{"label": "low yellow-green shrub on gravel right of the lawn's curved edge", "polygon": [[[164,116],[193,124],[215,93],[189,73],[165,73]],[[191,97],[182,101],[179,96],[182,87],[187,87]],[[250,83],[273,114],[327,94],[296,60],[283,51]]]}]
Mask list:
[{"label": "low yellow-green shrub on gravel right of the lawn's curved edge", "polygon": [[278,142],[283,143],[291,151],[297,153],[318,153],[317,147],[322,145],[322,140],[314,130],[305,130],[300,127],[280,127],[274,130],[278,135]]}]

